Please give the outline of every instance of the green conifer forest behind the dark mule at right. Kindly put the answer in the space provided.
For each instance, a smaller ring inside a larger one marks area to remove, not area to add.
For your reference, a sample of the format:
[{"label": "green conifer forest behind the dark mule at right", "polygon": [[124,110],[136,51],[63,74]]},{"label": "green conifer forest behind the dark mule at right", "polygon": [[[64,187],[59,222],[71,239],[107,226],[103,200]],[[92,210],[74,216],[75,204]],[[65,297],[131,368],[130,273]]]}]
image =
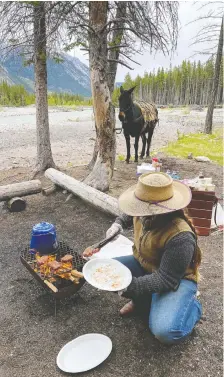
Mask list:
[{"label": "green conifer forest behind the dark mule at right", "polygon": [[[158,69],[157,72],[145,73],[134,80],[127,74],[124,80],[124,89],[136,86],[134,98],[157,105],[202,105],[207,106],[212,91],[212,80],[215,71],[215,61],[208,60],[191,63],[183,61],[180,66],[170,67],[168,70]],[[113,93],[113,102],[117,105],[120,89]],[[221,64],[220,80],[216,104],[223,101],[223,64]]]}]

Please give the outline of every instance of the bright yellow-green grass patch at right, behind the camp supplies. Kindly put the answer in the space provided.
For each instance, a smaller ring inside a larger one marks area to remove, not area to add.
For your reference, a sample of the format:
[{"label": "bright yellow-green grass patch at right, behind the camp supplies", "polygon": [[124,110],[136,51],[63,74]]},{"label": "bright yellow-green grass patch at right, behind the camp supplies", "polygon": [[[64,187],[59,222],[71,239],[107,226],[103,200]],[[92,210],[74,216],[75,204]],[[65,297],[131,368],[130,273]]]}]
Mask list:
[{"label": "bright yellow-green grass patch at right, behind the camp supplies", "polygon": [[168,143],[161,149],[169,156],[187,158],[189,153],[196,156],[206,156],[211,161],[223,165],[223,134],[222,130],[215,131],[212,135],[203,133],[181,135],[178,134],[176,142]]}]

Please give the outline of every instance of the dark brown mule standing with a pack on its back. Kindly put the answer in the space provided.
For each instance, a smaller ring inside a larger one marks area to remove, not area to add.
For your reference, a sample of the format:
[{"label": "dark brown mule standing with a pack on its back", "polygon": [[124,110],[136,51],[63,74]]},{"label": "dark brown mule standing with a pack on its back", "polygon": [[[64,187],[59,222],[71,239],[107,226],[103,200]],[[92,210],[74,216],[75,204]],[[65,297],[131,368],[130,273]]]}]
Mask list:
[{"label": "dark brown mule standing with a pack on its back", "polygon": [[[124,136],[127,145],[126,162],[129,163],[130,154],[130,136],[135,138],[135,162],[138,162],[138,143],[142,138],[141,158],[149,156],[149,148],[152,140],[154,128],[158,122],[158,110],[153,104],[144,101],[133,102],[132,92],[135,87],[124,90],[121,86],[119,97],[119,119],[122,123]],[[148,134],[148,137],[146,135]],[[147,148],[146,148],[147,143]]]}]

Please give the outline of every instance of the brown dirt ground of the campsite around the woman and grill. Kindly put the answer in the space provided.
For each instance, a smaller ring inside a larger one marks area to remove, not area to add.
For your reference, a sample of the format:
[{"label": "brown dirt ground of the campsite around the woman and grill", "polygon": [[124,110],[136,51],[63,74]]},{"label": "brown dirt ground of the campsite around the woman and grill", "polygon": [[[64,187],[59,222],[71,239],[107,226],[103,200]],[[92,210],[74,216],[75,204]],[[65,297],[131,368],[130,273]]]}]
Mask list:
[{"label": "brown dirt ground of the campsite around the woman and grill", "polygon": [[[203,170],[212,176],[221,198],[222,168],[163,156],[163,170],[178,170],[181,177],[194,177]],[[136,165],[116,164],[110,194],[136,182]],[[27,168],[1,171],[1,184],[22,181]],[[77,179],[85,167],[67,170]],[[45,179],[43,179],[45,183]],[[125,302],[116,294],[98,291],[85,284],[78,294],[55,303],[19,260],[29,243],[32,226],[40,221],[56,224],[59,239],[81,252],[102,239],[113,218],[86,206],[77,198],[65,203],[57,192],[27,197],[27,209],[9,213],[0,208],[0,376],[59,377],[56,356],[68,341],[85,333],[102,333],[113,342],[110,357],[96,369],[81,374],[89,377],[217,377],[222,375],[222,235],[200,237],[203,250],[202,280],[199,285],[203,318],[190,338],[166,347],[154,339],[140,317],[122,319]],[[127,233],[131,237],[131,232]],[[88,357],[88,355],[86,355]],[[70,376],[70,374],[67,374]]]}]

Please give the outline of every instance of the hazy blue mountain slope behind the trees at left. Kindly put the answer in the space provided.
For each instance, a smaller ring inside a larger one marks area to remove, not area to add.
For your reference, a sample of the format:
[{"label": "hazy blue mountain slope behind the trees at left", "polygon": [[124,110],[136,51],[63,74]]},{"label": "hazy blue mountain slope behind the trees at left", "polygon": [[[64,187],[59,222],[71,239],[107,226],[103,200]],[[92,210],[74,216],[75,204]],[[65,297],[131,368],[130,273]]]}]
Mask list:
[{"label": "hazy blue mountain slope behind the trees at left", "polygon": [[[62,55],[63,62],[47,61],[48,91],[91,96],[89,68],[78,58]],[[33,65],[24,66],[22,57],[11,54],[0,63],[0,82],[9,85],[23,85],[29,92],[34,92]]]}]

